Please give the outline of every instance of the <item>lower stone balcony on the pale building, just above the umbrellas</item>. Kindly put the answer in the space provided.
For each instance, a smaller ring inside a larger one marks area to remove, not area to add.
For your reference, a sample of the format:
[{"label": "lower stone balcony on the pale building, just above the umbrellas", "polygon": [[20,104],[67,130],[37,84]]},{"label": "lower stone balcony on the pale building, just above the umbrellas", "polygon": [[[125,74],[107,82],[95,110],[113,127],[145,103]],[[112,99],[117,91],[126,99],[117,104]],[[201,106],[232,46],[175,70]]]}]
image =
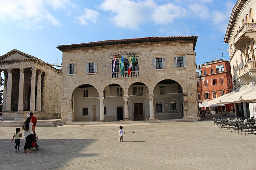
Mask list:
[{"label": "lower stone balcony on the pale building, just above the umbrellas", "polygon": [[256,78],[256,60],[249,61],[237,70],[237,80],[248,84],[251,78]]}]

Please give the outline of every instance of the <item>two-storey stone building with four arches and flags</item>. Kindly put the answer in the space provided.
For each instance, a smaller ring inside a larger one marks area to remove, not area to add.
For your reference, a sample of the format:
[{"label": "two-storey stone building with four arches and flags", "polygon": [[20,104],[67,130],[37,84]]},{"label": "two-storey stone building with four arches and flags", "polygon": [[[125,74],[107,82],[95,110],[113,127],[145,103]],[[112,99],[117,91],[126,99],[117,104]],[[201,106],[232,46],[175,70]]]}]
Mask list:
[{"label": "two-storey stone building with four arches and flags", "polygon": [[[198,120],[196,40],[147,37],[58,46],[63,53],[61,119]],[[124,75],[119,67],[122,55]]]}]

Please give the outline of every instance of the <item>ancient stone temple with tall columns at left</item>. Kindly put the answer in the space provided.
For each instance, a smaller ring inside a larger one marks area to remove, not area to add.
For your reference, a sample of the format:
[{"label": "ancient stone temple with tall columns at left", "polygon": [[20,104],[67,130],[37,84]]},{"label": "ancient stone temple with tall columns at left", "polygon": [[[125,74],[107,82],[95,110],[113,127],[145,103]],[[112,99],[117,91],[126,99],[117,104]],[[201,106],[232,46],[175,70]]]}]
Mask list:
[{"label": "ancient stone temple with tall columns at left", "polygon": [[0,70],[5,120],[23,120],[29,111],[38,119],[60,118],[60,70],[16,49],[0,56]]}]

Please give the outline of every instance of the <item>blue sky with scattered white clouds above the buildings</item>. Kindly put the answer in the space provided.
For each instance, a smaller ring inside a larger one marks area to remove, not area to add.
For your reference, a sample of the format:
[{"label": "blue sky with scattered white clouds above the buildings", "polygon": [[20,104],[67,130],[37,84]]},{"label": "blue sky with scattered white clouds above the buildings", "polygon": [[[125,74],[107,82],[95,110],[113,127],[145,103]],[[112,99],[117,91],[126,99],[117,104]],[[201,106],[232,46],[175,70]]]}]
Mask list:
[{"label": "blue sky with scattered white clouds above the buildings", "polygon": [[[18,49],[44,62],[58,45],[152,36],[198,36],[196,63],[229,60],[223,42],[236,0],[0,0],[0,55]],[[204,59],[203,59],[204,57]],[[60,62],[61,63],[61,62]],[[60,64],[58,63],[58,64]]]}]

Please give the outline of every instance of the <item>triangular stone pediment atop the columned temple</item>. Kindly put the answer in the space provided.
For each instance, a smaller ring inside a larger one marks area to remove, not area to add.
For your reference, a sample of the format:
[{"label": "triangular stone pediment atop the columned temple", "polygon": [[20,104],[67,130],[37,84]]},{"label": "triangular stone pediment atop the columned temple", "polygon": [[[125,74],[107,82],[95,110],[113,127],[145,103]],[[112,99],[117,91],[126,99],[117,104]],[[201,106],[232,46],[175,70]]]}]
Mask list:
[{"label": "triangular stone pediment atop the columned temple", "polygon": [[1,60],[31,59],[31,58],[36,58],[36,57],[34,57],[32,55],[28,55],[26,53],[23,53],[17,49],[13,49],[12,51],[6,53],[5,55],[0,56],[0,61]]}]

